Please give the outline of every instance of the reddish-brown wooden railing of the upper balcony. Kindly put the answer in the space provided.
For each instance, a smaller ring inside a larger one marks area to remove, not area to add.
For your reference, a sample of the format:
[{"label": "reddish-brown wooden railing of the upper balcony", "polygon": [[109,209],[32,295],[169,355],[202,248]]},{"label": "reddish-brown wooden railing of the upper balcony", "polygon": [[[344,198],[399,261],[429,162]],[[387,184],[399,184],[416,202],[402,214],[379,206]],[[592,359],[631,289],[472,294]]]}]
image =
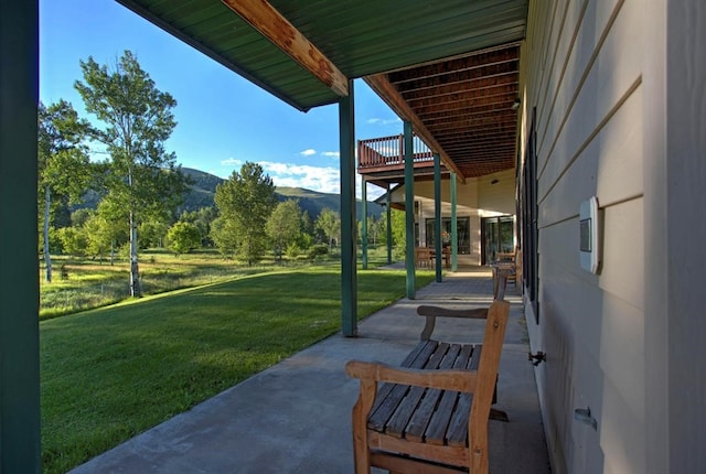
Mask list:
[{"label": "reddish-brown wooden railing of the upper balcony", "polygon": [[[372,138],[357,142],[359,173],[405,168],[405,136]],[[434,165],[434,153],[417,136],[413,137],[415,168]]]}]

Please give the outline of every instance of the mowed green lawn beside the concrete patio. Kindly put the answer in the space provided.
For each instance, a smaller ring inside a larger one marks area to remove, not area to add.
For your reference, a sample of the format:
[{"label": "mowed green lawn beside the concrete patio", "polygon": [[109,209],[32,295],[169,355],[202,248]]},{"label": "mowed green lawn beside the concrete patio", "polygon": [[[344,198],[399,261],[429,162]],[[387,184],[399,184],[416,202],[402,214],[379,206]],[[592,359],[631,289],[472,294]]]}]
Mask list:
[{"label": "mowed green lawn beside the concrete patio", "polygon": [[[359,316],[405,288],[404,271],[359,270]],[[43,471],[65,472],[335,333],[340,294],[338,267],[292,268],[41,322]]]}]

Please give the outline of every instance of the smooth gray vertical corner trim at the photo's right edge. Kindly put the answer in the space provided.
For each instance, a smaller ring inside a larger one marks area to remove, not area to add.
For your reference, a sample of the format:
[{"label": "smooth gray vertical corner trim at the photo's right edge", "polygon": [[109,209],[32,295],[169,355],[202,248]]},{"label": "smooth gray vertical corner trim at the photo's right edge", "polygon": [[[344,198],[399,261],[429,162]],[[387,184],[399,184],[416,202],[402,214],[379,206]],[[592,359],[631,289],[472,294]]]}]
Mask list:
[{"label": "smooth gray vertical corner trim at the photo's right edge", "polygon": [[[660,79],[666,77],[666,87],[663,89],[666,93],[665,120],[657,122],[666,138],[666,147],[650,146],[652,153],[663,152],[655,153],[657,159],[662,157],[666,171],[661,180],[663,187],[655,197],[661,197],[665,188],[666,208],[661,215],[654,213],[653,208],[646,208],[645,215],[664,217],[662,223],[654,224],[661,224],[667,233],[663,254],[666,265],[654,266],[652,272],[666,272],[668,298],[661,303],[667,305],[662,313],[645,306],[651,310],[651,320],[661,317],[655,327],[657,331],[666,320],[668,336],[665,341],[663,332],[660,341],[662,344],[666,342],[668,347],[668,365],[664,377],[661,367],[663,362],[659,362],[659,370],[650,374],[645,390],[651,397],[661,394],[665,386],[668,390],[666,403],[662,399],[656,400],[654,407],[648,407],[649,412],[653,413],[653,409],[667,406],[668,419],[664,430],[667,434],[659,435],[655,442],[668,442],[668,472],[704,473],[706,319],[699,283],[704,281],[706,268],[703,244],[706,240],[706,3],[703,0],[659,1],[655,14],[664,13],[664,3],[666,14],[659,18],[667,19],[663,26],[667,32],[663,46],[666,47],[666,56],[664,67],[655,67],[655,73]],[[649,18],[654,21],[653,17]],[[655,65],[651,62],[650,66]],[[649,114],[648,117],[649,120],[656,120],[660,116]],[[656,202],[656,198],[652,202]],[[660,209],[664,208],[664,201],[656,205]],[[652,353],[649,351],[649,356],[656,357]],[[652,403],[652,400],[649,401]],[[652,445],[650,451],[653,451]],[[657,454],[661,452],[657,451]],[[653,460],[650,459],[650,462]],[[659,462],[657,457],[655,465],[659,466]]]}]

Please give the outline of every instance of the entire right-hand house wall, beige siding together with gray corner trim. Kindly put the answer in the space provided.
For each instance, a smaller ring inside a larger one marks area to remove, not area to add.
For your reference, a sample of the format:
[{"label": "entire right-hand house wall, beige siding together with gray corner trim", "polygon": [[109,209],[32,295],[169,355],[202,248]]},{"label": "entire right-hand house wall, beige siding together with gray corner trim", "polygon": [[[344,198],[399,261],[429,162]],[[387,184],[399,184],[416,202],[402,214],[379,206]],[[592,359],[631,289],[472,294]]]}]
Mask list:
[{"label": "entire right-hand house wall, beige siding together with gray corner trim", "polygon": [[[706,472],[705,30],[697,0],[531,2],[538,314],[525,309],[548,354],[535,374],[554,472]],[[592,195],[598,274],[578,257]],[[574,417],[589,407],[597,430]]]}]

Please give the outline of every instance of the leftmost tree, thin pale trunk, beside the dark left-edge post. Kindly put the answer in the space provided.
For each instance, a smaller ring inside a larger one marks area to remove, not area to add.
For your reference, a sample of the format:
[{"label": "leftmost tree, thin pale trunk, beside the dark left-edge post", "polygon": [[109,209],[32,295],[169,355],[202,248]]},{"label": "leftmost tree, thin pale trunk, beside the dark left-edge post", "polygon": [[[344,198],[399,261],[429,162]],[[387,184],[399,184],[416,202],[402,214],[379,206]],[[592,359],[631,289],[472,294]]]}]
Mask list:
[{"label": "leftmost tree, thin pale trunk, beside the dark left-edge post", "polygon": [[89,180],[88,153],[83,144],[89,127],[81,120],[73,106],[60,100],[49,107],[39,105],[38,166],[40,195],[44,195],[43,236],[45,279],[52,281],[50,227],[52,205],[76,203],[81,200]]}]

